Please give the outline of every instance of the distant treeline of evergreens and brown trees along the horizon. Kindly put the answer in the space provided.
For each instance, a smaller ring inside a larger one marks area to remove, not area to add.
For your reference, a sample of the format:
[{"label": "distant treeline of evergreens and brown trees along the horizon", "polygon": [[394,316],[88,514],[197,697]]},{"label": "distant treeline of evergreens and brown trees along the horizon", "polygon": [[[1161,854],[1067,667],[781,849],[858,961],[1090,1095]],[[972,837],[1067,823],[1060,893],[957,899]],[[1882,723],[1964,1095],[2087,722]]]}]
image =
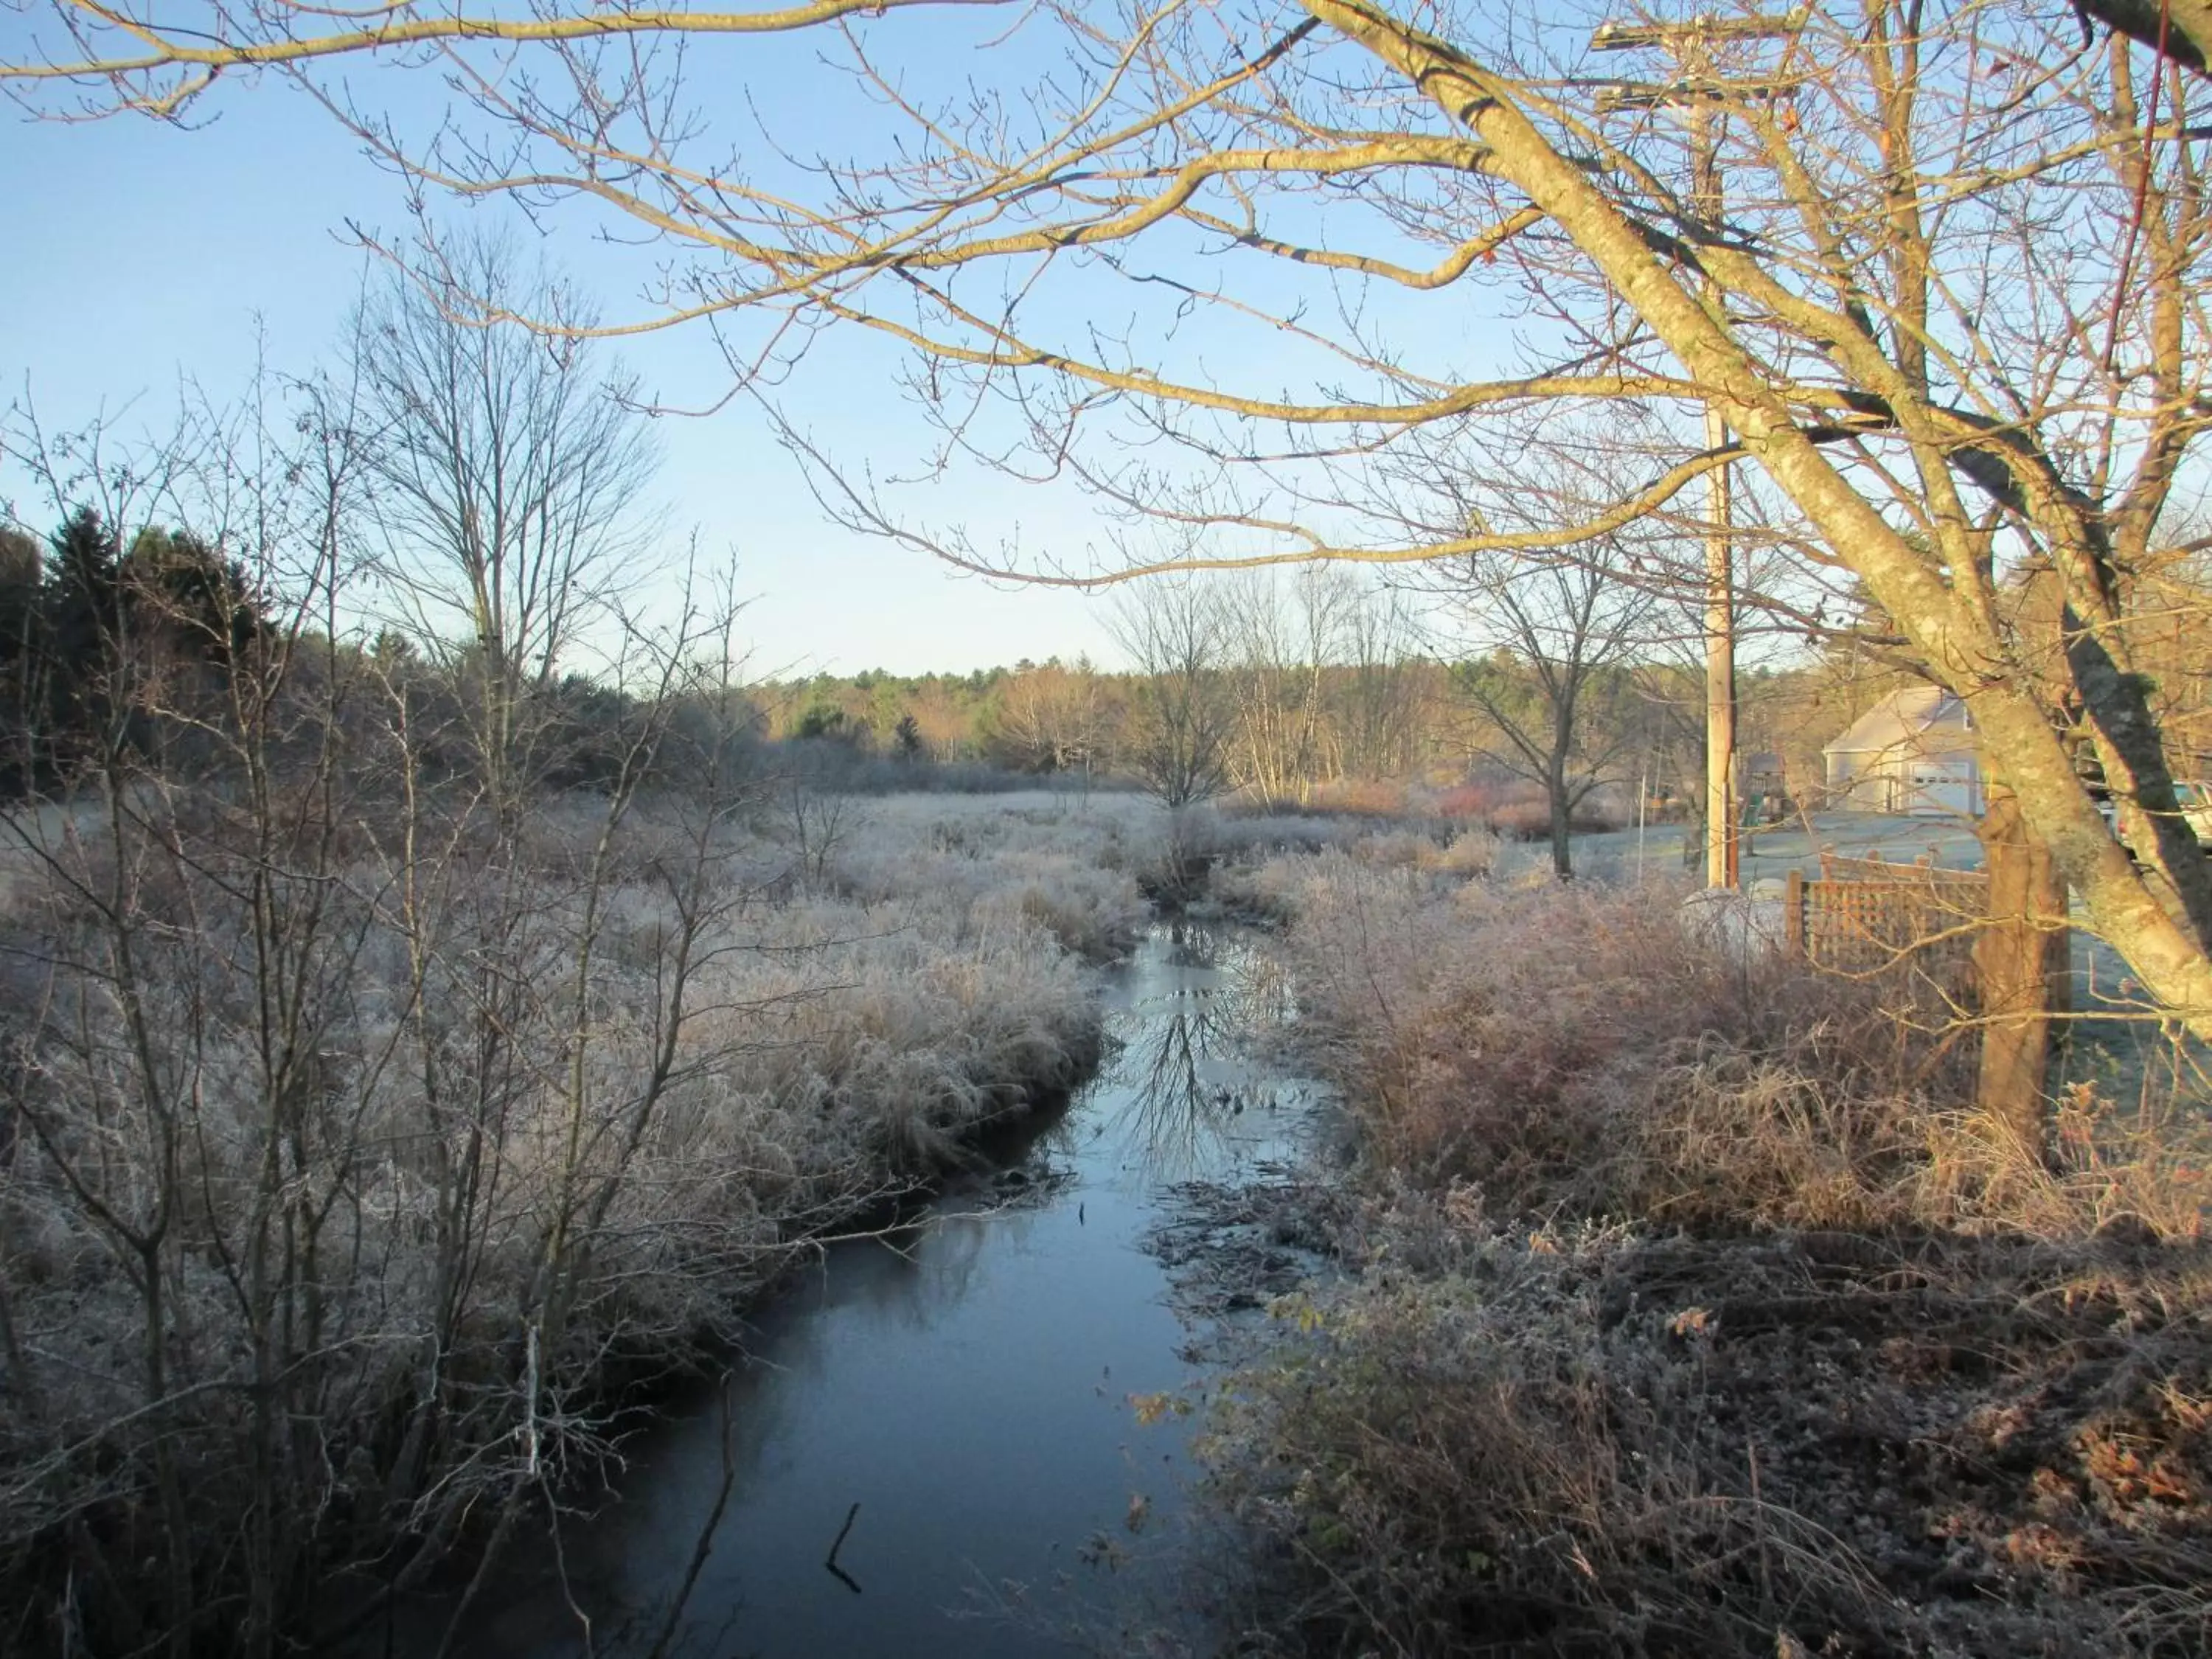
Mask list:
[{"label": "distant treeline of evergreens and brown trees along the horizon", "polygon": [[[46,535],[0,526],[0,787],[46,790],[111,752],[190,765],[221,719],[226,668],[241,653],[292,639],[283,595],[190,531],[139,529],[128,542],[91,507]],[[1088,659],[1020,659],[967,675],[814,675],[759,681],[688,721],[712,723],[757,761],[823,787],[989,790],[1040,779],[1144,783],[1157,745],[1159,688],[1181,679],[1181,706],[1219,757],[1219,787],[1276,803],[1402,805],[1431,792],[1524,779],[1544,761],[1515,754],[1513,732],[1553,719],[1546,664],[1498,648],[1460,661],[1413,650],[1296,661],[1270,630],[1223,628],[1197,664],[1155,672]],[[480,748],[469,708],[471,653],[400,628],[354,646],[403,695],[431,772],[465,774]],[[330,661],[325,655],[323,661]],[[2179,677],[2177,677],[2179,679]],[[294,666],[290,697],[312,697]],[[1741,688],[1743,752],[1809,799],[1820,745],[1900,677],[1847,653],[1790,670],[1754,670]],[[135,690],[119,690],[135,688]],[[150,695],[148,695],[150,692]],[[734,701],[734,708],[732,708]],[[531,688],[531,774],[549,787],[611,779],[637,723],[637,699],[586,672]],[[1690,803],[1703,772],[1703,684],[1681,661],[1637,659],[1593,670],[1573,714],[1566,763],[1615,803]],[[1400,785],[1400,787],[1378,787]],[[1577,792],[1577,801],[1582,792]],[[1509,825],[1500,825],[1509,827]]]}]

